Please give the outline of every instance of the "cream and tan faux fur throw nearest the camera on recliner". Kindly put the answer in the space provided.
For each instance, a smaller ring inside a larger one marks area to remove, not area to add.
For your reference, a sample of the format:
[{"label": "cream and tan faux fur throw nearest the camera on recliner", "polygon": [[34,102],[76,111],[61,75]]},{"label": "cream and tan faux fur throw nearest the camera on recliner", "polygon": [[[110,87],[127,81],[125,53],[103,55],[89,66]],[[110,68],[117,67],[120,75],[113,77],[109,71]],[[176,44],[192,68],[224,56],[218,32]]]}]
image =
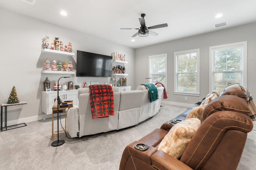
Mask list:
[{"label": "cream and tan faux fur throw nearest the camera on recliner", "polygon": [[158,150],[180,159],[200,124],[201,122],[198,118],[190,118],[177,123],[165,135],[159,144]]}]

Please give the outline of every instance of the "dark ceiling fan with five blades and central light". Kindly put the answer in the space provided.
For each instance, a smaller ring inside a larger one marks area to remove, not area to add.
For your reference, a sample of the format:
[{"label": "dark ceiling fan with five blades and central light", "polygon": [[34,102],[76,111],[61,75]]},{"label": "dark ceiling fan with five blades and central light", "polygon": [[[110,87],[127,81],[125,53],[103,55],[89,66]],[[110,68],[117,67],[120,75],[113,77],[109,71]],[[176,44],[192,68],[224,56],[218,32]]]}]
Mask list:
[{"label": "dark ceiling fan with five blades and central light", "polygon": [[163,23],[160,25],[154,25],[151,27],[146,27],[145,19],[144,19],[145,16],[146,16],[146,14],[141,14],[142,18],[139,18],[140,25],[141,25],[140,28],[120,28],[120,29],[138,29],[139,31],[137,33],[135,33],[134,35],[132,35],[132,37],[136,37],[137,35],[139,35],[140,37],[146,37],[146,36],[148,36],[148,34],[154,35],[154,36],[158,35],[158,33],[155,33],[154,31],[150,31],[149,29],[168,27],[167,23]]}]

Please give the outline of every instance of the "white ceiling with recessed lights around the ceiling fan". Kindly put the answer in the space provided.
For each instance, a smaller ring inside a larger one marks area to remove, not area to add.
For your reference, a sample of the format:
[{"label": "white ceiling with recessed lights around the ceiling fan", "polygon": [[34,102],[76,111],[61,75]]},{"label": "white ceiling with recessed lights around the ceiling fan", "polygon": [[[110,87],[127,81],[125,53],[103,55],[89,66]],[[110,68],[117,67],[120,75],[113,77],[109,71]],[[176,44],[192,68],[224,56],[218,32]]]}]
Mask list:
[{"label": "white ceiling with recessed lights around the ceiling fan", "polygon": [[[1,0],[0,7],[39,20],[101,37],[134,49],[226,29],[256,21],[256,0]],[[66,10],[67,16],[60,11]],[[132,38],[139,28],[140,14],[146,26],[168,23],[151,29],[157,36]],[[222,18],[214,18],[222,13]],[[214,28],[227,21],[228,25]],[[135,39],[134,42],[131,40]]]}]

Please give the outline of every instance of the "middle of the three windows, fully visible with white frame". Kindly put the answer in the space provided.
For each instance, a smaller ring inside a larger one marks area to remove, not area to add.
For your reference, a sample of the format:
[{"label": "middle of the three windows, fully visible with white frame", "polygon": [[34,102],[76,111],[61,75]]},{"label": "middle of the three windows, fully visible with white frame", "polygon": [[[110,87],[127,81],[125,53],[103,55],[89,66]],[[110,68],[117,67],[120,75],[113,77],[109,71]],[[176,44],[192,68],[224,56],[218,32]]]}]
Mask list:
[{"label": "middle of the three windows, fully visible with white frame", "polygon": [[199,49],[174,52],[174,94],[199,96]]}]

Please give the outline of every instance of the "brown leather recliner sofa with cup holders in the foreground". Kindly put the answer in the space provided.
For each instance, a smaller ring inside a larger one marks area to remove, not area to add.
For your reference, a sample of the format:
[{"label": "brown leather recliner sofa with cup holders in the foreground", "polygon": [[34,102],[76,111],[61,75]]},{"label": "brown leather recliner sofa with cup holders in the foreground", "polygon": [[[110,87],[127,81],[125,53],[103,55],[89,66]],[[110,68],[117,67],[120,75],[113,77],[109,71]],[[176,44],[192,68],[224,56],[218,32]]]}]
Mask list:
[{"label": "brown leather recliner sofa with cup holders in the foreground", "polygon": [[204,121],[180,159],[158,150],[158,146],[170,128],[184,120],[192,107],[164,123],[160,129],[128,145],[122,154],[119,169],[235,170],[242,156],[247,133],[253,128],[245,98],[244,92],[240,90],[228,90],[210,102],[203,111]]}]

